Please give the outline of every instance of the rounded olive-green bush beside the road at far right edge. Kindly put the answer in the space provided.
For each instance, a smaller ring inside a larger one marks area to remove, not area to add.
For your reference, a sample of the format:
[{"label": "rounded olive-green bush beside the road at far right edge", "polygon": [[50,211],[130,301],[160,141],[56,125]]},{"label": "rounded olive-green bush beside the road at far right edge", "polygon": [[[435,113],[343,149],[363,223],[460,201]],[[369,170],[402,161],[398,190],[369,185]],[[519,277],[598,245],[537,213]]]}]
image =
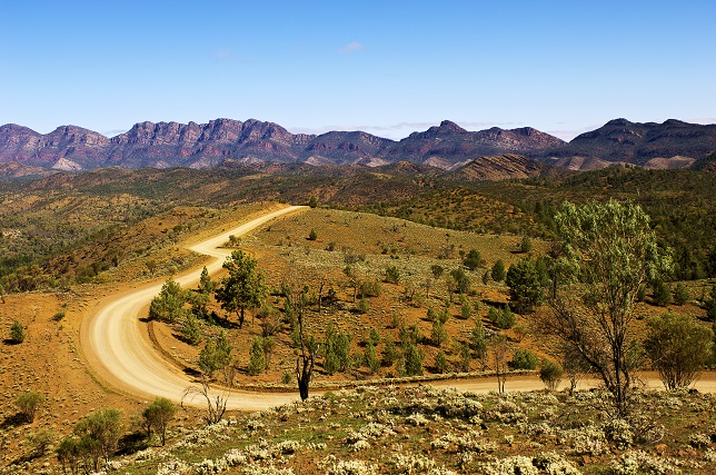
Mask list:
[{"label": "rounded olive-green bush beside the road at far right edge", "polygon": [[667,389],[686,387],[712,355],[714,333],[692,317],[667,311],[648,321],[644,342],[652,365]]}]

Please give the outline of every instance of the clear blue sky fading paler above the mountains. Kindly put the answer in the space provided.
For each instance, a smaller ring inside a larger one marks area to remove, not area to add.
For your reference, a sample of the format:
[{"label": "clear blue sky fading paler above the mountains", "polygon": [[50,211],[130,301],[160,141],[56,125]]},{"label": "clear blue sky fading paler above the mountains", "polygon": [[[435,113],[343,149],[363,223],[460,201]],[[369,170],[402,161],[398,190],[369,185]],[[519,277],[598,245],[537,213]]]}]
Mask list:
[{"label": "clear blue sky fading paler above the mountains", "polygon": [[278,122],[401,138],[450,119],[569,139],[716,122],[716,2],[21,1],[0,6],[0,125]]}]

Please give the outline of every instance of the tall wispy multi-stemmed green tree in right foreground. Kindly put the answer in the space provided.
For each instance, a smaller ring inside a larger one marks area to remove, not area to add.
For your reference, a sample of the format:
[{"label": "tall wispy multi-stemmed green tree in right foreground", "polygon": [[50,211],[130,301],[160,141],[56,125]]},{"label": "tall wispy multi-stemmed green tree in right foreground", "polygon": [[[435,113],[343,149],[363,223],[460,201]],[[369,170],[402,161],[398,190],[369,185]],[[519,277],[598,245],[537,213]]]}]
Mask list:
[{"label": "tall wispy multi-stemmed green tree in right foreground", "polygon": [[555,217],[565,281],[543,325],[599,374],[616,415],[628,412],[638,343],[630,331],[639,290],[670,267],[649,217],[633,202],[565,202]]}]

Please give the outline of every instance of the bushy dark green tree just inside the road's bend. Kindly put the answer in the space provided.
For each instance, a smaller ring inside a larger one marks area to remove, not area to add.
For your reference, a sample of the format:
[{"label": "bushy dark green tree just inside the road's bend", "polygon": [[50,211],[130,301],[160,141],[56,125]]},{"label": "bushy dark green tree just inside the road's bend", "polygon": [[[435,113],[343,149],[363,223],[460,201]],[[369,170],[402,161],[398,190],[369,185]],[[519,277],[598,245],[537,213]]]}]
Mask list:
[{"label": "bushy dark green tree just inside the road's bend", "polygon": [[216,290],[221,308],[237,314],[239,328],[243,326],[243,311],[247,308],[259,308],[268,294],[263,273],[257,270],[256,264],[256,259],[248,254],[235,250],[223,263],[229,275],[221,279]]}]

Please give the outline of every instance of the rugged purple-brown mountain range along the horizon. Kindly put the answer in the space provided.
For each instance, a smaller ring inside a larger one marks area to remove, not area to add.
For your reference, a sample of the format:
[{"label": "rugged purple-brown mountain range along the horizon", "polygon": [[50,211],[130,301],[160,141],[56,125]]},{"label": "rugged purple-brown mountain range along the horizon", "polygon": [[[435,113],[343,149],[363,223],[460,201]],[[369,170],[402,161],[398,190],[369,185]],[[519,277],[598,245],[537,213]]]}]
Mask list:
[{"label": "rugged purple-brown mountain range along the horizon", "polygon": [[17,125],[0,127],[0,164],[66,171],[270,164],[376,167],[408,161],[448,171],[471,165],[473,171],[465,176],[477,179],[485,171],[475,171],[475,160],[483,157],[493,157],[488,175],[499,175],[497,168],[509,168],[517,160],[518,175],[534,176],[541,172],[541,164],[576,170],[614,162],[684,168],[715,150],[716,125],[679,120],[638,123],[616,119],[569,142],[530,127],[468,131],[449,120],[399,141],[362,131],[291,133],[277,123],[255,119],[140,122],[111,138],[76,126],[46,135]]}]

